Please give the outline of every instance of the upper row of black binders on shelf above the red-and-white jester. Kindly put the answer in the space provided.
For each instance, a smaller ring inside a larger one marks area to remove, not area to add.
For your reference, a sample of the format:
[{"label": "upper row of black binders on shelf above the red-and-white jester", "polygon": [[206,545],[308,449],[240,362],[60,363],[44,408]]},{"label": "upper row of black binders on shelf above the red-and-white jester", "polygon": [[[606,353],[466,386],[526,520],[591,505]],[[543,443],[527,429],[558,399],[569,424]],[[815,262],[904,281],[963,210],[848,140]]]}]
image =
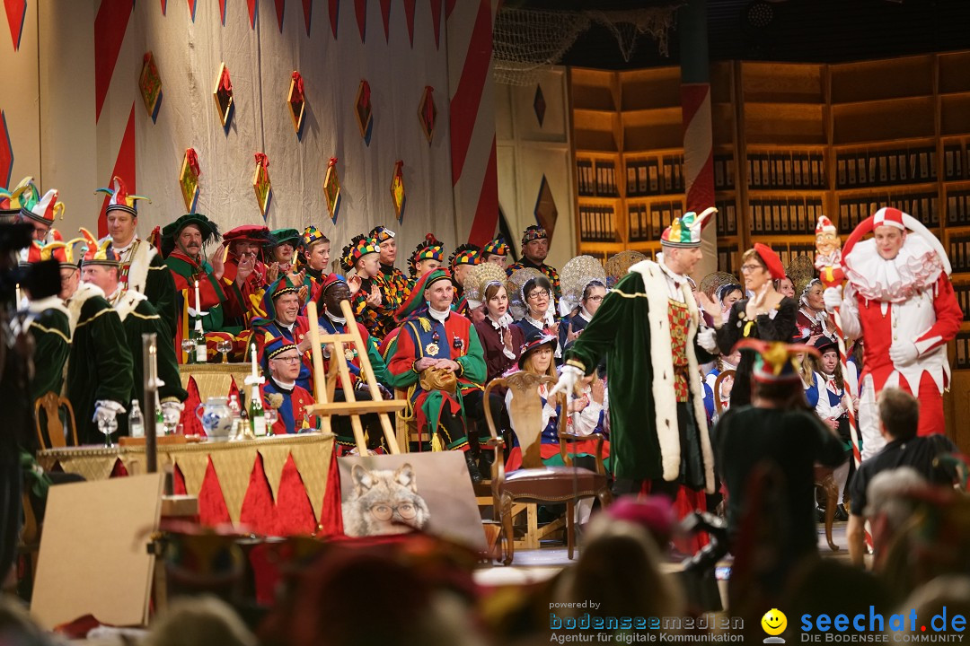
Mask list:
[{"label": "upper row of black binders on shelf above the red-and-white jester", "polygon": [[936,150],[843,152],[835,157],[835,178],[840,189],[885,186],[936,180]]}]

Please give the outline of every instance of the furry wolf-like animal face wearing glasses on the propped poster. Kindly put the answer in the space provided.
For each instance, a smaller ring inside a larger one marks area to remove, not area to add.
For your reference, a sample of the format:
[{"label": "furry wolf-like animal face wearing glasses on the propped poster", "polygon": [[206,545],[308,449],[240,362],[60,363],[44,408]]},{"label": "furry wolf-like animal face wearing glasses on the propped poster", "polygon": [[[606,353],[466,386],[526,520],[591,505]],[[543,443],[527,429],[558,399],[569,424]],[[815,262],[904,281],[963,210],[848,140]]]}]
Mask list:
[{"label": "furry wolf-like animal face wearing glasses on the propped poster", "polygon": [[351,537],[404,534],[422,530],[431,512],[418,494],[410,464],[397,471],[370,471],[359,464],[350,472],[353,493],[343,503],[343,531]]}]

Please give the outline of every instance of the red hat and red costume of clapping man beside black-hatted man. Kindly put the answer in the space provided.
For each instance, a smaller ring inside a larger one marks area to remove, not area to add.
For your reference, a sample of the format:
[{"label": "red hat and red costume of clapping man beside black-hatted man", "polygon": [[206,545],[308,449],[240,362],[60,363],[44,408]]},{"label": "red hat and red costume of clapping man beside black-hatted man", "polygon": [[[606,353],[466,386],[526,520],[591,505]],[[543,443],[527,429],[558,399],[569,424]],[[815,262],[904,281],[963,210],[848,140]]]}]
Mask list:
[{"label": "red hat and red costume of clapping man beside black-hatted man", "polygon": [[275,238],[266,227],[243,225],[227,231],[222,236],[222,241],[228,250],[225,271],[222,274],[222,291],[227,296],[223,326],[230,331],[239,332],[249,326],[254,307],[263,299],[266,288],[266,264],[257,258],[252,273],[246,277],[242,285],[237,285],[236,274],[239,271],[240,259],[232,251],[233,243],[250,242],[259,245],[259,254],[262,255],[264,247],[275,244]]}]

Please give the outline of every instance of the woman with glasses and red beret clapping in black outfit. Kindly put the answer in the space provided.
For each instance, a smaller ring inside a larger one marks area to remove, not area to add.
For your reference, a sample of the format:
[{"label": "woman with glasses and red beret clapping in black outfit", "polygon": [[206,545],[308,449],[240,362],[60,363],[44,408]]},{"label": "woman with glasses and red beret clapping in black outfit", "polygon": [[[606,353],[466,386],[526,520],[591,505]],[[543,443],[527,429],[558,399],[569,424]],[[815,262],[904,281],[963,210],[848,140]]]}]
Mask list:
[{"label": "woman with glasses and red beret clapping in black outfit", "polygon": [[[791,342],[798,305],[794,299],[775,290],[773,281],[785,277],[785,265],[778,254],[767,245],[756,242],[755,247],[741,257],[741,277],[745,289],[754,295],[741,298],[731,306],[727,323],[723,323],[721,308],[710,298],[700,296],[704,310],[717,329],[721,353],[730,354],[734,344],[741,339]],[[741,353],[730,393],[731,408],[751,402],[751,368],[754,361],[755,353]]]}]

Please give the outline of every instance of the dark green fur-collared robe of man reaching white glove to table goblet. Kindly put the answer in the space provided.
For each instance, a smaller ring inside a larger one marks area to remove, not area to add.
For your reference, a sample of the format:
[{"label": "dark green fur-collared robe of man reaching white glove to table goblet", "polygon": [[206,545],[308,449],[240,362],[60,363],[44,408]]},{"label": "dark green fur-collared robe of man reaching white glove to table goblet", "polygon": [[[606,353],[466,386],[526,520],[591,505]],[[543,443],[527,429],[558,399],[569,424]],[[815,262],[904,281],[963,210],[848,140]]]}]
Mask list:
[{"label": "dark green fur-collared robe of man reaching white glove to table goblet", "polygon": [[[128,291],[118,296],[114,310],[118,313],[118,318],[121,319],[121,326],[124,328],[125,339],[132,359],[132,383],[127,401],[123,402],[125,409],[130,412],[131,401],[138,399],[143,404],[143,415],[148,415],[148,412],[154,410],[154,402],[145,402],[142,396],[145,388],[142,335],[152,332],[157,335],[158,378],[165,382],[165,385],[158,388],[158,399],[160,402],[185,401],[188,393],[181,386],[175,346],[171,343],[165,343],[167,326],[154,306],[142,294]],[[118,430],[122,435],[127,435],[129,431],[127,415],[122,415],[122,417],[118,422]]]}]

